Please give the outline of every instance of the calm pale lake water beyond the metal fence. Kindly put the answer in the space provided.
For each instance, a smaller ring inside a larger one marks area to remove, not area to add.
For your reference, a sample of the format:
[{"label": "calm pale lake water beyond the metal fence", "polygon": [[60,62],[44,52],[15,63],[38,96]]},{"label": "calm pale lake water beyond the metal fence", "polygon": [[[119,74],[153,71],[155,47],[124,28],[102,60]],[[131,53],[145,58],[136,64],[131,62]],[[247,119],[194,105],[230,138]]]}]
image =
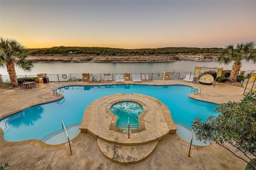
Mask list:
[{"label": "calm pale lake water beyond the metal fence", "polygon": [[[196,66],[218,66],[224,70],[231,70],[232,64],[218,64],[216,61],[190,61],[159,63],[35,63],[31,72],[25,72],[16,67],[17,75],[47,74],[80,74],[89,73],[158,73],[168,72],[194,72]],[[241,70],[256,70],[256,64],[242,62]],[[0,74],[8,75],[6,68],[0,68]]]}]

